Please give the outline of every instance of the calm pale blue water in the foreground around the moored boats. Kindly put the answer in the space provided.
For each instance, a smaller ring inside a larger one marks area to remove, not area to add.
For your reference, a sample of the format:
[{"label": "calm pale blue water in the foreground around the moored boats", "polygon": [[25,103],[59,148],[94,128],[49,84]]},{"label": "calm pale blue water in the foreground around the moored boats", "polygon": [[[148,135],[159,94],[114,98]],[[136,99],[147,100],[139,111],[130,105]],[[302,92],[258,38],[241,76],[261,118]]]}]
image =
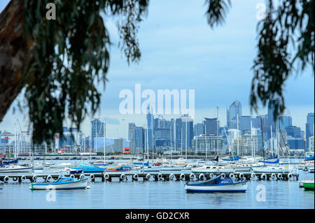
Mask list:
[{"label": "calm pale blue water in the foreground around the moored boats", "polygon": [[[300,171],[299,180],[314,180],[313,173]],[[40,180],[38,180],[39,182]],[[297,180],[249,180],[246,193],[186,193],[183,181],[90,182],[90,189],[30,191],[29,182],[0,183],[0,208],[311,208],[314,191],[299,188]],[[265,187],[265,201],[256,196]],[[258,199],[259,200],[259,199]]]}]

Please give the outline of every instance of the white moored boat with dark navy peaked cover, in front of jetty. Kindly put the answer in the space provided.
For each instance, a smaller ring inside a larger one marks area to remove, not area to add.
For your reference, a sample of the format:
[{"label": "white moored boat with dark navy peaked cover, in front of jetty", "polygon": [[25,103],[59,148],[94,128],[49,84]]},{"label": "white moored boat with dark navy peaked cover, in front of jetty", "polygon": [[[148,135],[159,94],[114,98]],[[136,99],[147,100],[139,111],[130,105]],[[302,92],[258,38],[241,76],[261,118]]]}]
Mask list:
[{"label": "white moored boat with dark navy peaked cover, in front of jetty", "polygon": [[186,192],[246,192],[247,181],[233,182],[232,179],[222,179],[222,176],[202,182],[188,182]]}]

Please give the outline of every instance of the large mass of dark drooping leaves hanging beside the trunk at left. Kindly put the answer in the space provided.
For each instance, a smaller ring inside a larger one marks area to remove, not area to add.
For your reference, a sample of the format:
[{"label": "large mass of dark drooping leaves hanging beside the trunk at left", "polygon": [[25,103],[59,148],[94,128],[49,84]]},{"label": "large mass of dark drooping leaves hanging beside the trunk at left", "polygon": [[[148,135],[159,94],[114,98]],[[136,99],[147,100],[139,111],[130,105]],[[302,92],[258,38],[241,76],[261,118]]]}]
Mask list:
[{"label": "large mass of dark drooping leaves hanging beside the trunk at left", "polygon": [[134,62],[141,56],[137,26],[148,6],[145,0],[55,1],[57,18],[46,20],[48,2],[25,0],[23,34],[34,54],[24,71],[25,98],[35,143],[62,135],[66,116],[80,129],[85,115],[99,108],[95,86],[105,86],[111,45],[101,14],[121,16],[121,48]]}]

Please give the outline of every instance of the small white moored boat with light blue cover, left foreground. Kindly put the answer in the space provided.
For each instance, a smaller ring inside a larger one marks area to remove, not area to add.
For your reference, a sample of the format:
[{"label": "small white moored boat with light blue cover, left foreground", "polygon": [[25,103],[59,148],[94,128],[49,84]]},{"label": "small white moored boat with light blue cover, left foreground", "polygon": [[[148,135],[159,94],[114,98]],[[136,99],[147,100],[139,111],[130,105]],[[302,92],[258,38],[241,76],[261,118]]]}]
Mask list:
[{"label": "small white moored boat with light blue cover, left foreground", "polygon": [[34,182],[29,185],[29,189],[86,189],[87,178],[74,180],[73,178],[58,178],[55,182]]}]

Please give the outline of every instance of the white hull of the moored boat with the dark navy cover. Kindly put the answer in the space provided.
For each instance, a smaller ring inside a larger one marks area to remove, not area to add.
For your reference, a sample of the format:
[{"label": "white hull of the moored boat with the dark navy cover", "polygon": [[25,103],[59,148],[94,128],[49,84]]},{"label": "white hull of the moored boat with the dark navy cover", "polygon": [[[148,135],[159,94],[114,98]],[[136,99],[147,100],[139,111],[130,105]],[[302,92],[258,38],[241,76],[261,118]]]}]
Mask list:
[{"label": "white hull of the moored boat with the dark navy cover", "polygon": [[185,185],[186,192],[246,192],[247,183],[232,185]]}]

